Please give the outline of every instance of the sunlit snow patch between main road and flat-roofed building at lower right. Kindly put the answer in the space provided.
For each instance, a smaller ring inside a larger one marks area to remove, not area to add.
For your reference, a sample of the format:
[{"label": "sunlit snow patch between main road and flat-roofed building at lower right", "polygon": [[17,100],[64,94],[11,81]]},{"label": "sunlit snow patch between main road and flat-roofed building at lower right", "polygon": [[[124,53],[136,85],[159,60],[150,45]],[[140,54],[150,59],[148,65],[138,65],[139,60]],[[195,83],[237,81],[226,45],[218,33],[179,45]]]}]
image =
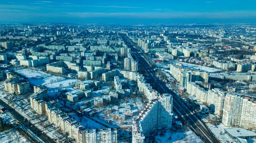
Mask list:
[{"label": "sunlit snow patch between main road and flat-roofed building at lower right", "polygon": [[206,123],[211,132],[218,137],[218,139],[222,143],[227,143],[227,141],[234,141],[232,138],[230,138],[224,131],[224,129],[229,129],[230,127],[224,126],[222,123],[219,125],[212,125],[211,123]]}]

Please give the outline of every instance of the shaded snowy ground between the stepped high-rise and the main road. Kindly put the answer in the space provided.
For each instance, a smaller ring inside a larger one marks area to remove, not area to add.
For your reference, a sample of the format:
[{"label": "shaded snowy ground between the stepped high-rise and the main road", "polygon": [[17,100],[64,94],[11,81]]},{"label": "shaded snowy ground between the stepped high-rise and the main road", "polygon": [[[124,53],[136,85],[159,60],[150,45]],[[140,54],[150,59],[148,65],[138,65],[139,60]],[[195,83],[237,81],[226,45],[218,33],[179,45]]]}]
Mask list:
[{"label": "shaded snowy ground between the stepped high-rise and the main road", "polygon": [[203,143],[192,131],[172,132],[167,131],[163,137],[158,135],[155,137],[157,143]]}]

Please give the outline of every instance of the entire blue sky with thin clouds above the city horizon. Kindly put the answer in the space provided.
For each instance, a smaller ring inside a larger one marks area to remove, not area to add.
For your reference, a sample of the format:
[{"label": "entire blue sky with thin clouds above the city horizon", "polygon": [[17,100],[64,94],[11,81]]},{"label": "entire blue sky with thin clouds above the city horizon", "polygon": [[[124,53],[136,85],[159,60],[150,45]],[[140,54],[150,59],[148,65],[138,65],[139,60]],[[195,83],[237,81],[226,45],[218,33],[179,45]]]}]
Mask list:
[{"label": "entire blue sky with thin clouds above the city horizon", "polygon": [[256,23],[256,0],[1,1],[1,23]]}]

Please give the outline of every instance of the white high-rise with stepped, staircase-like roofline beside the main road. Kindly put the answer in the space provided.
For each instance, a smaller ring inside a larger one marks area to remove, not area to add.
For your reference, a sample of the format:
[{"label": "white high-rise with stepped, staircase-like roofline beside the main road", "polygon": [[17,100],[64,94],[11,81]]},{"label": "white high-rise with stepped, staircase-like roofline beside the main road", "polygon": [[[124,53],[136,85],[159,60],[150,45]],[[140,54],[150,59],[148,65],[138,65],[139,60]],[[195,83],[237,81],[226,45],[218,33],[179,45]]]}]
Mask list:
[{"label": "white high-rise with stepped, staircase-like roofline beside the main road", "polygon": [[151,100],[132,125],[132,143],[144,139],[157,129],[172,128],[172,95],[163,94]]}]

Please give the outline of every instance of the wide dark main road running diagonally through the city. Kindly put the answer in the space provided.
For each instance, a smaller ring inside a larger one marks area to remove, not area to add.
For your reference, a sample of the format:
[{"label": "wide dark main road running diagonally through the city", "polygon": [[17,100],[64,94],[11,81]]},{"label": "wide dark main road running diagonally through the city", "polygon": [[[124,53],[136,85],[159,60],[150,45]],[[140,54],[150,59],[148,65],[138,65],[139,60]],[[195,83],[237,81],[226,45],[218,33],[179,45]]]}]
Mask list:
[{"label": "wide dark main road running diagonally through the city", "polygon": [[198,117],[189,110],[184,100],[181,99],[175,92],[170,90],[166,86],[166,83],[159,80],[155,76],[154,69],[151,66],[149,66],[149,64],[145,61],[145,59],[138,53],[138,50],[140,49],[135,48],[136,45],[134,45],[125,34],[120,34],[120,35],[124,40],[125,44],[128,46],[128,48],[131,48],[132,56],[136,57],[137,60],[139,60],[140,68],[143,67],[145,69],[145,72],[147,73],[148,77],[151,79],[151,84],[152,83],[154,84],[154,88],[161,94],[163,93],[172,94],[174,112],[180,115],[180,117],[182,117],[189,124],[190,129],[195,134],[197,134],[198,137],[200,137],[204,143],[219,143],[219,140],[212,134],[212,132],[209,131],[209,129],[207,129],[206,125],[202,123],[201,120],[198,119]]}]

